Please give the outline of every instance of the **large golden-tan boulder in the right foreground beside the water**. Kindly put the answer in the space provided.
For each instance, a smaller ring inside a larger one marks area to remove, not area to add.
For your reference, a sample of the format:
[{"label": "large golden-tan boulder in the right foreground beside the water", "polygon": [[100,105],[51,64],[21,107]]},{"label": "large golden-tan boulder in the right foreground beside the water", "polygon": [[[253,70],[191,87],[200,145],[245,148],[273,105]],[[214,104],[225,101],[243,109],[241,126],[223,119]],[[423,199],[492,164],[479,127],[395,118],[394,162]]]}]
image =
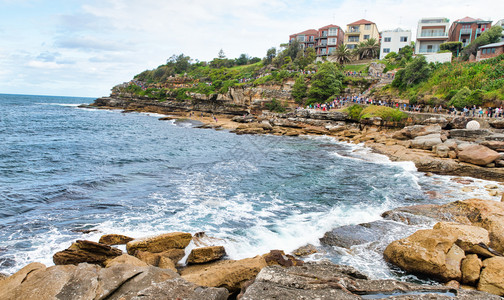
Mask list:
[{"label": "large golden-tan boulder in the right foreground beside the water", "polygon": [[475,226],[439,223],[434,229],[419,230],[387,246],[385,259],[401,269],[443,281],[460,280],[464,251],[455,242],[478,244],[488,235]]}]

